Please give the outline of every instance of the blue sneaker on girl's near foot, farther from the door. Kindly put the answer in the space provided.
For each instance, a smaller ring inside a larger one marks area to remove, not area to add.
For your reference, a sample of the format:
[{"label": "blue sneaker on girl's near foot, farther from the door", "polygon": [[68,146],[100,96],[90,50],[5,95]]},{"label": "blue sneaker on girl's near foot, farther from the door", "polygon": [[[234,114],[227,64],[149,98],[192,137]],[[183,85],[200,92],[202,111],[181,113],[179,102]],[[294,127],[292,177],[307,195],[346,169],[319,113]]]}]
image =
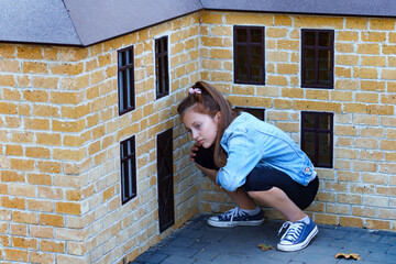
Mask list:
[{"label": "blue sneaker on girl's near foot, farther from the door", "polygon": [[309,223],[300,220],[297,222],[285,222],[280,230],[287,228],[284,235],[280,238],[280,242],[277,244],[279,251],[298,251],[306,248],[314,237],[318,233],[318,227],[309,218]]}]

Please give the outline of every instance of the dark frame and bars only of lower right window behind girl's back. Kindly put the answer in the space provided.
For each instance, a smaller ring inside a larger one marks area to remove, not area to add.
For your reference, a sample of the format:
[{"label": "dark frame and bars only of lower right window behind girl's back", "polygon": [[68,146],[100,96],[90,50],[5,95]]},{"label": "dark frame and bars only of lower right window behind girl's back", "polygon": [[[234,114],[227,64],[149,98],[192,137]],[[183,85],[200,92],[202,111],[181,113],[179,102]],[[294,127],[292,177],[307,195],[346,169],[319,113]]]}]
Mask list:
[{"label": "dark frame and bars only of lower right window behind girl's back", "polygon": [[[307,128],[306,122],[305,122],[305,118],[307,114],[312,114],[315,116],[315,128]],[[326,116],[326,117],[330,117],[330,128],[329,129],[321,129],[319,128],[319,117],[320,116]],[[306,132],[311,132],[315,133],[315,142],[314,142],[314,148],[315,148],[315,154],[314,156],[310,156],[307,152],[307,155],[309,156],[309,158],[311,160],[311,162],[314,163],[314,166],[316,167],[326,167],[326,168],[332,168],[333,167],[333,139],[334,139],[334,113],[332,112],[314,112],[314,111],[301,111],[301,150],[304,152],[306,152],[306,142],[305,142],[305,133]],[[330,135],[330,150],[329,151],[329,161],[328,164],[320,164],[319,163],[319,154],[320,154],[320,143],[319,143],[319,134],[329,134]]]}]

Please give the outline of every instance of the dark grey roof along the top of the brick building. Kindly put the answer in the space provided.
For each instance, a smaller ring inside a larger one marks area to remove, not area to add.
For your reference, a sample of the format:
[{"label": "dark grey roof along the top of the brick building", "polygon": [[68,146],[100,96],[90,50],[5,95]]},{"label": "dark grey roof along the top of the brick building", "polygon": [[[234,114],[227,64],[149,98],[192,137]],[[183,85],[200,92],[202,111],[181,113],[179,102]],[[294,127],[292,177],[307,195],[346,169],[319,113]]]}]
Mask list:
[{"label": "dark grey roof along the top of the brick building", "polygon": [[199,10],[396,18],[394,0],[0,0],[0,42],[89,46]]}]

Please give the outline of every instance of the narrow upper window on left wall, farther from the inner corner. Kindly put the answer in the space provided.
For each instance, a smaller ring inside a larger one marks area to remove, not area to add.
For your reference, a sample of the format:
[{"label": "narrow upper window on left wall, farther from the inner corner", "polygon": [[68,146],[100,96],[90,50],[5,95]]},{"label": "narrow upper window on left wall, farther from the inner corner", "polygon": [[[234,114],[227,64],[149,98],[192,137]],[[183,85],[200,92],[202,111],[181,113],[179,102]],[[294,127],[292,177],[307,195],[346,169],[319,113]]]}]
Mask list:
[{"label": "narrow upper window on left wall, farther from the inner corner", "polygon": [[135,108],[133,46],[118,52],[119,114]]}]

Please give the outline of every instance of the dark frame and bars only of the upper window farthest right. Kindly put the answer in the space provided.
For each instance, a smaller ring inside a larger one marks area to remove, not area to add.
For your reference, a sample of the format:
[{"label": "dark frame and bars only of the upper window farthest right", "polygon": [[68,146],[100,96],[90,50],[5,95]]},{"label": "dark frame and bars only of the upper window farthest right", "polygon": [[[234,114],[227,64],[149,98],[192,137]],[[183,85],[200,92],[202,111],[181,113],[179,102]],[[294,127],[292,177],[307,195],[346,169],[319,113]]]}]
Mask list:
[{"label": "dark frame and bars only of the upper window farthest right", "polygon": [[[315,33],[315,45],[306,44],[306,33]],[[330,33],[330,46],[321,46],[319,44],[319,34]],[[307,85],[306,80],[306,53],[308,50],[315,51],[315,84]],[[319,85],[319,51],[330,51],[330,85]],[[334,30],[316,30],[316,29],[302,29],[301,30],[301,87],[302,88],[334,88]]]}]

